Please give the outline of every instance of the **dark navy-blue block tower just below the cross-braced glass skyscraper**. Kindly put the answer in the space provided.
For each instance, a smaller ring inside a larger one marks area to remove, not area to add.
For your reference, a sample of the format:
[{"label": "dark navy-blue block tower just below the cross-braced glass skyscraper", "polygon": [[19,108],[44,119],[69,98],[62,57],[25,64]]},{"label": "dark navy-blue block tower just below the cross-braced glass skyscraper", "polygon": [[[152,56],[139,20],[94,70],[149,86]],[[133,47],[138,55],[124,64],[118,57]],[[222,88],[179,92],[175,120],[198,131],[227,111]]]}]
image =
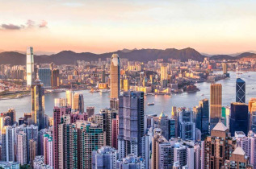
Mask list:
[{"label": "dark navy-blue block tower just below the cross-braced glass skyscraper", "polygon": [[247,134],[250,130],[250,113],[248,105],[245,103],[231,103],[231,113],[229,116],[229,130],[231,136],[234,136],[235,131],[242,131]]}]

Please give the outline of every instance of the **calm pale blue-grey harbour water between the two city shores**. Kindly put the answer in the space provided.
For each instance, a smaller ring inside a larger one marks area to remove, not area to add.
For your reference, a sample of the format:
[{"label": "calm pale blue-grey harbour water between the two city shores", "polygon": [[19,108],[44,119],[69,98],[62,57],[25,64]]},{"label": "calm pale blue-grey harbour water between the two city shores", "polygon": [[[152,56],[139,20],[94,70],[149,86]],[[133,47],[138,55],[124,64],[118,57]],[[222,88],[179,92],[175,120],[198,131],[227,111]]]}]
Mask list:
[{"label": "calm pale blue-grey harbour water between the two city shores", "polygon": [[[230,105],[231,102],[236,101],[236,78],[236,73],[230,72],[230,78],[216,82],[222,84],[222,105]],[[251,97],[256,97],[256,72],[243,72],[241,78],[246,81],[246,102],[248,103]],[[172,106],[192,108],[199,105],[201,99],[209,99],[210,83],[204,82],[196,85],[200,89],[197,93],[173,94],[172,97],[165,95],[146,96],[145,114],[160,114],[164,111],[170,116]],[[109,93],[89,93],[89,90],[76,92],[83,93],[85,107],[94,106],[95,113],[98,113],[100,109],[109,107]],[[65,93],[45,94],[45,113],[50,117],[52,117],[54,99],[58,97],[65,97]],[[154,105],[148,105],[152,102]],[[19,117],[23,117],[23,113],[31,112],[31,97],[0,100],[0,112],[5,112],[9,108],[15,108],[17,121]]]}]

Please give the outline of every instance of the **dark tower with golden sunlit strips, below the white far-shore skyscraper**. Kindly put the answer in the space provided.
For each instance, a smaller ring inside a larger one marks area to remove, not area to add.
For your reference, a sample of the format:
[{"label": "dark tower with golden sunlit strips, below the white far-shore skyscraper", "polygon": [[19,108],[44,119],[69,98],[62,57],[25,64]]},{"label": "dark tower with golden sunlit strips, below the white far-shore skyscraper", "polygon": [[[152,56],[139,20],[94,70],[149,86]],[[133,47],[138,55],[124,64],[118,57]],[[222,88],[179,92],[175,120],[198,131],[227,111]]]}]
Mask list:
[{"label": "dark tower with golden sunlit strips, below the white far-shore skyscraper", "polygon": [[44,129],[44,87],[40,80],[31,85],[31,113],[32,123]]}]

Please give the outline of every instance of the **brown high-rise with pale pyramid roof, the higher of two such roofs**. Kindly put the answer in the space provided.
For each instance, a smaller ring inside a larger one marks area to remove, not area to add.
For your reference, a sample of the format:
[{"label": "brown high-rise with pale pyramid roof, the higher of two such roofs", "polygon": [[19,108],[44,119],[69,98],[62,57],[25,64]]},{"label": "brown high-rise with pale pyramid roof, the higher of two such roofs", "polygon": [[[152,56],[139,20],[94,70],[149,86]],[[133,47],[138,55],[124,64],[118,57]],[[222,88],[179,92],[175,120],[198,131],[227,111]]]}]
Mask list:
[{"label": "brown high-rise with pale pyramid roof, the higher of two such roofs", "polygon": [[215,169],[224,165],[229,160],[236,141],[229,137],[229,129],[218,122],[211,131],[211,136],[204,140],[204,168]]}]

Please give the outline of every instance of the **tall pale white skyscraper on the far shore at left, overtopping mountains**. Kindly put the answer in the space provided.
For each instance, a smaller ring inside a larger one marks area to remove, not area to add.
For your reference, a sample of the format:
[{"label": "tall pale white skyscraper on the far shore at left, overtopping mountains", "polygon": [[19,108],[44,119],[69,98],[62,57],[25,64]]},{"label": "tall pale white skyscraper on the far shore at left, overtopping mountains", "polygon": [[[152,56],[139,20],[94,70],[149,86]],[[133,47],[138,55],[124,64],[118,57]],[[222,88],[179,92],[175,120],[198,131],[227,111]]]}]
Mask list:
[{"label": "tall pale white skyscraper on the far shore at left, overtopping mountains", "polygon": [[35,80],[33,47],[27,47],[27,87]]}]

